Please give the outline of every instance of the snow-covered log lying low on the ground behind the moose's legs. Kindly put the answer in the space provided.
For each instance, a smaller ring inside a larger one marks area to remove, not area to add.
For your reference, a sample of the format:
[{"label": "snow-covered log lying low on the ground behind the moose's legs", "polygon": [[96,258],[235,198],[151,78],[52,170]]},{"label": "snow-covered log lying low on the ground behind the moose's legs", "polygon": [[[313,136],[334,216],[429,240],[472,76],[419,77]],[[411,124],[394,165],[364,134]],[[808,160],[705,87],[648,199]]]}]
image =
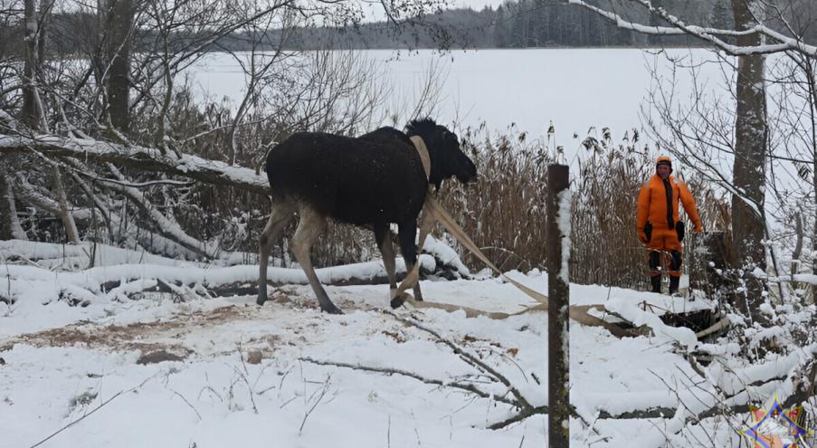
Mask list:
[{"label": "snow-covered log lying low on the ground behind the moose's legs", "polygon": [[[148,253],[136,253],[92,243],[61,245],[24,241],[0,242],[0,261],[6,264],[0,281],[7,285],[4,301],[64,300],[72,304],[91,300],[121,299],[136,292],[176,291],[176,287],[195,291],[244,291],[243,284],[258,280],[257,265],[230,267],[206,266],[202,263],[180,262]],[[89,266],[94,253],[95,267],[81,271],[54,272],[54,267]],[[430,255],[420,256],[421,269],[433,272],[436,262]],[[12,264],[10,262],[20,262]],[[324,284],[350,285],[387,282],[383,262],[361,262],[316,270]],[[396,262],[396,271],[405,273],[403,260]],[[268,282],[275,285],[308,284],[300,269],[269,268]],[[164,283],[164,288],[161,287]],[[48,291],[47,293],[43,291]]]}]

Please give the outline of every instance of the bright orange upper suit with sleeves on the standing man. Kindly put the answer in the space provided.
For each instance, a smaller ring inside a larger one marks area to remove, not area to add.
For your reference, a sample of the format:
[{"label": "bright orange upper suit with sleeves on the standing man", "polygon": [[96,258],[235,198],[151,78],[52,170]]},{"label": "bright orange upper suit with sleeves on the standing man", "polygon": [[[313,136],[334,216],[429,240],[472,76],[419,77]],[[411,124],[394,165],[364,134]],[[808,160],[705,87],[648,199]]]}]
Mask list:
[{"label": "bright orange upper suit with sleeves on the standing man", "polygon": [[[700,216],[698,216],[698,208],[695,206],[695,199],[689,193],[689,188],[682,181],[679,181],[675,176],[670,176],[670,187],[672,195],[667,197],[667,188],[658,175],[652,175],[644,185],[641,186],[641,191],[638,195],[638,214],[636,218],[636,226],[641,233],[644,231],[644,225],[649,221],[653,228],[670,227],[667,207],[670,206],[672,210],[672,222],[678,223],[678,202],[684,205],[684,210],[687,211],[689,219],[695,225],[695,230],[700,232],[703,227],[700,223]],[[671,204],[670,204],[671,203]]]}]

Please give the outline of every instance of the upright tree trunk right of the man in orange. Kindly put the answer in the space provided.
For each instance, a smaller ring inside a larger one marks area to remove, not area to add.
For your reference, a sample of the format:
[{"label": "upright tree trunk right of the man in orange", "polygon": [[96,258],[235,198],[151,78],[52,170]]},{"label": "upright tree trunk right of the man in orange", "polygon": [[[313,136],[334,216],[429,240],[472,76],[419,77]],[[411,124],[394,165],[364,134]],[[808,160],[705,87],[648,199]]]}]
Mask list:
[{"label": "upright tree trunk right of the man in orange", "polygon": [[[755,0],[732,0],[736,29],[754,25],[751,6]],[[740,46],[761,44],[756,33],[739,36]],[[737,300],[739,310],[755,317],[763,303],[763,283],[751,275],[755,268],[765,270],[764,185],[768,144],[764,79],[765,57],[758,54],[737,58],[735,165],[732,195],[732,237],[736,267],[746,274],[746,296]]]}]

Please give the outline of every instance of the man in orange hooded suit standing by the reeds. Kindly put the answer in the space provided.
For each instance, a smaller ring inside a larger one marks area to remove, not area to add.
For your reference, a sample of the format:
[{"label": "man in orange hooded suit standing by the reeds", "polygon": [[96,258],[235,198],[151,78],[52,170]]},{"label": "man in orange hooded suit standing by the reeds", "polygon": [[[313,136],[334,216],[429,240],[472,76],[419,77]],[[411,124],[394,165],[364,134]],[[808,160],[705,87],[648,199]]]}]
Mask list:
[{"label": "man in orange hooded suit standing by the reeds", "polygon": [[670,294],[678,292],[680,282],[681,240],[684,238],[684,223],[679,220],[678,204],[684,205],[695,232],[703,232],[695,199],[682,181],[671,176],[672,160],[660,156],[655,161],[655,175],[642,186],[638,195],[636,226],[641,243],[650,249],[652,291],[661,291],[661,253],[670,253]]}]

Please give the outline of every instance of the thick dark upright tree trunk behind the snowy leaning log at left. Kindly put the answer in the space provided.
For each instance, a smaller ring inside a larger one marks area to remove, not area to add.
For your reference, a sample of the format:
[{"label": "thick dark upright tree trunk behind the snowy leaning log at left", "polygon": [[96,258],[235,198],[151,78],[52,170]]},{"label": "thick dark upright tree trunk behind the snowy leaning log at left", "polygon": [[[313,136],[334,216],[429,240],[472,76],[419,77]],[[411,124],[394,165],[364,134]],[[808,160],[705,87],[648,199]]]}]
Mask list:
[{"label": "thick dark upright tree trunk behind the snowy leaning log at left", "polygon": [[130,129],[128,93],[130,91],[130,43],[133,0],[113,0],[108,10],[108,114],[110,124],[121,132]]}]

